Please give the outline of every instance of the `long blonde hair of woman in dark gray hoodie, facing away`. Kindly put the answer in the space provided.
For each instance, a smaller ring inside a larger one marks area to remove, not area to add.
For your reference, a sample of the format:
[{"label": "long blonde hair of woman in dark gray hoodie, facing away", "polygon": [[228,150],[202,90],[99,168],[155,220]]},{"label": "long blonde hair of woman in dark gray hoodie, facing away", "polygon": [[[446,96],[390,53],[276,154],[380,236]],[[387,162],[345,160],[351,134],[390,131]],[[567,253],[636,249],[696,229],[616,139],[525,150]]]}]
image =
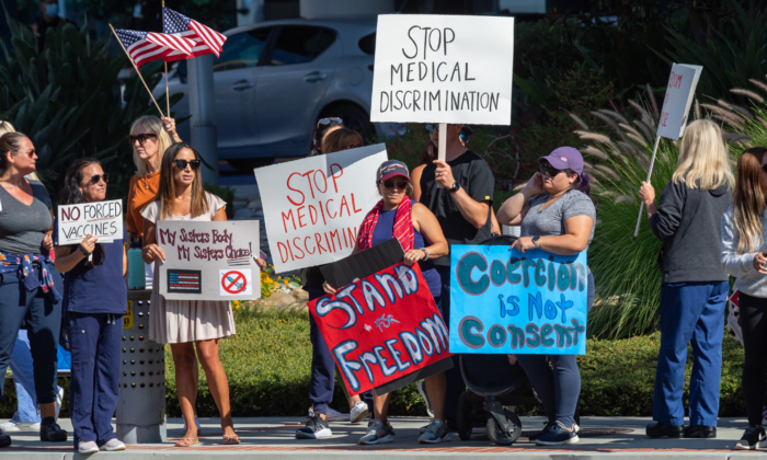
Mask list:
[{"label": "long blonde hair of woman in dark gray hoodie, facing away", "polygon": [[672,182],[701,191],[722,185],[733,188],[735,176],[719,126],[708,119],[697,119],[687,125],[679,145],[679,165],[674,171]]}]

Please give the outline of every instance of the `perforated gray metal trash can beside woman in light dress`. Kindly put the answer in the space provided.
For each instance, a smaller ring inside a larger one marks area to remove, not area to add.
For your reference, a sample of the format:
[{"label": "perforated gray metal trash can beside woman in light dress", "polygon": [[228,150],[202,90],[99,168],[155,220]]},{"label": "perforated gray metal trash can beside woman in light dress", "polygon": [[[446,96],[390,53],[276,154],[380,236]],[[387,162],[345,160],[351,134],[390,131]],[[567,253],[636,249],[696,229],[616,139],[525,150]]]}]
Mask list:
[{"label": "perforated gray metal trash can beside woman in light dress", "polygon": [[147,338],[151,290],[128,290],[117,401],[117,438],[125,444],[167,439],[165,350]]}]

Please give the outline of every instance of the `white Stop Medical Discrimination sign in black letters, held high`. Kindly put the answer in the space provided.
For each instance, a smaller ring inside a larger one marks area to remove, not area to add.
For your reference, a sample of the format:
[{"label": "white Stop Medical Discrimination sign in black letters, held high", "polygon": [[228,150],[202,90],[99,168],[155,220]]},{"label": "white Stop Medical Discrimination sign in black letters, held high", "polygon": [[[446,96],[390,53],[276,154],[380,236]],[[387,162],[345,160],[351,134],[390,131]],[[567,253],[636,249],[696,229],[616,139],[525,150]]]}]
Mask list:
[{"label": "white Stop Medical Discrimination sign in black letters, held high", "polygon": [[381,14],[371,122],[512,124],[514,18]]}]

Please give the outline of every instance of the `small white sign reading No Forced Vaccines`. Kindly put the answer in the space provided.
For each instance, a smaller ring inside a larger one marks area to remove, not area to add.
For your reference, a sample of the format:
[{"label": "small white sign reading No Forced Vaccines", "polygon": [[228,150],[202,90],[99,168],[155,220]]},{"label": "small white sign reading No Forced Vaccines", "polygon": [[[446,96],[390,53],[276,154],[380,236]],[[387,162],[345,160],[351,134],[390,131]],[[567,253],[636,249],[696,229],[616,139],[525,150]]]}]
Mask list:
[{"label": "small white sign reading No Forced Vaccines", "polygon": [[123,238],[123,202],[82,203],[58,207],[57,244],[80,244],[89,234],[100,243]]}]

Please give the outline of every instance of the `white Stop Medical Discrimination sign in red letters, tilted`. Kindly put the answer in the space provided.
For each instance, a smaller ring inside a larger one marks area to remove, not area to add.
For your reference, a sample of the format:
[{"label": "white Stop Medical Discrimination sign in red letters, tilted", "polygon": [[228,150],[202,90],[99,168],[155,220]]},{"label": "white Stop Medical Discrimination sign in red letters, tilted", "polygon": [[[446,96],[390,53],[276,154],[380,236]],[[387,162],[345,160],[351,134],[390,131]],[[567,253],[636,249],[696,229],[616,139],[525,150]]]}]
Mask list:
[{"label": "white Stop Medical Discrimination sign in red letters, tilted", "polygon": [[275,272],[352,253],[359,225],[381,199],[376,170],[386,160],[379,143],[255,170]]}]

